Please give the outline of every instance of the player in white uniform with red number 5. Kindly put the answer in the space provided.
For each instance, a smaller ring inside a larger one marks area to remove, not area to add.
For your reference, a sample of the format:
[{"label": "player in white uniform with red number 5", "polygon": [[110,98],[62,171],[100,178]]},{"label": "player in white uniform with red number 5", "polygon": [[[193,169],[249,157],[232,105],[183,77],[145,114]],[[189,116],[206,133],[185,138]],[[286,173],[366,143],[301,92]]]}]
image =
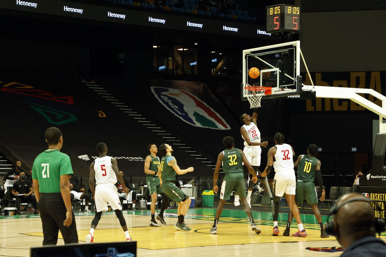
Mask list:
[{"label": "player in white uniform with red number 5", "polygon": [[[115,215],[119,220],[120,225],[126,236],[126,242],[132,241],[127,230],[126,221],[121,212],[122,206],[120,204],[119,195],[115,183],[117,178],[123,186],[126,195],[129,192],[129,188],[125,185],[125,181],[119,173],[118,162],[115,158],[107,156],[107,146],[105,143],[97,144],[97,151],[99,158],[95,159],[90,165],[90,189],[93,193],[95,200],[95,217],[91,222],[90,233],[86,236],[86,243],[92,243],[94,241],[94,230],[98,225],[102,212],[108,210],[107,203],[110,203],[111,207],[115,211]],[[94,176],[97,181],[97,186],[94,189]]]}]

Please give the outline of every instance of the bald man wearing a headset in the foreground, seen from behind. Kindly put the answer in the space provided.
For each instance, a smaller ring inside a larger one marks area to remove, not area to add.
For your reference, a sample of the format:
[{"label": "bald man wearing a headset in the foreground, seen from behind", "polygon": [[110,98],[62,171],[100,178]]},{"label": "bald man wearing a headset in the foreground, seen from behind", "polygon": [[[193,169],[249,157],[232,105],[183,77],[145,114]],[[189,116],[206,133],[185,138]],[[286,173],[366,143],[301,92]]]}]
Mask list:
[{"label": "bald man wearing a headset in the foreground, seen from behind", "polygon": [[385,230],[385,223],[383,218],[375,218],[372,205],[369,198],[357,193],[349,193],[338,199],[332,210],[332,220],[326,225],[326,232],[336,236],[344,248],[341,257],[385,255],[386,243],[375,236]]}]

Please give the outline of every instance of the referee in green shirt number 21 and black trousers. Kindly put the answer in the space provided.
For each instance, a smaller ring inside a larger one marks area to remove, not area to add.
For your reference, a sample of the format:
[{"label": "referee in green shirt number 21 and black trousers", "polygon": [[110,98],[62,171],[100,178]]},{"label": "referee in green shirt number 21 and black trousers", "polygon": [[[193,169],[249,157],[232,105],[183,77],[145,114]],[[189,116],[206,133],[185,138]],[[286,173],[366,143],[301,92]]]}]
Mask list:
[{"label": "referee in green shirt number 21 and black trousers", "polygon": [[62,132],[51,127],[44,135],[48,149],[36,157],[32,167],[32,181],[42,219],[43,245],[56,245],[59,229],[64,244],[78,243],[68,181],[73,170],[69,156],[60,152]]}]

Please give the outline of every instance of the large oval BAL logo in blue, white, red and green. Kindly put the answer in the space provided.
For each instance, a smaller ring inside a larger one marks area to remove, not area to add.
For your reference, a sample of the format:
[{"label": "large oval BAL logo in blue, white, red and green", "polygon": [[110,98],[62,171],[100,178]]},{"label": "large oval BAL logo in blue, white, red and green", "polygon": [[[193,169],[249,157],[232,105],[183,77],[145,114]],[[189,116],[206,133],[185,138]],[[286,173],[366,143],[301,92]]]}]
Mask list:
[{"label": "large oval BAL logo in blue, white, red and green", "polygon": [[166,87],[151,87],[151,91],[166,109],[196,127],[230,129],[215,110],[188,91]]}]

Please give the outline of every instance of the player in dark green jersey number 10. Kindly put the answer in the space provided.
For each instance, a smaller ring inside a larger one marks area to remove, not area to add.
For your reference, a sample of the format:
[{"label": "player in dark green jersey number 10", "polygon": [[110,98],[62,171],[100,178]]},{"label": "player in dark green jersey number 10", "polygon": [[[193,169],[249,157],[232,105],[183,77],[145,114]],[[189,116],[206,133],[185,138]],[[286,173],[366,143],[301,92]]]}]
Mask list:
[{"label": "player in dark green jersey number 10", "polygon": [[[320,197],[320,200],[323,202],[326,197],[326,192],[323,187],[322,174],[320,173],[322,163],[320,160],[315,158],[317,153],[318,146],[316,144],[310,144],[307,148],[307,155],[299,155],[294,163],[294,166],[298,167],[295,202],[296,205],[299,205],[299,203],[303,203],[304,198],[306,198],[307,203],[312,207],[315,218],[318,220],[320,237],[325,238],[328,237],[328,235],[323,228],[322,215],[320,215],[318,209],[318,198],[314,185],[314,180],[316,178],[318,185],[322,186],[322,196]],[[283,233],[285,236],[289,236],[289,228],[291,227],[292,218],[293,214],[291,210],[289,210],[287,227]]]}]

